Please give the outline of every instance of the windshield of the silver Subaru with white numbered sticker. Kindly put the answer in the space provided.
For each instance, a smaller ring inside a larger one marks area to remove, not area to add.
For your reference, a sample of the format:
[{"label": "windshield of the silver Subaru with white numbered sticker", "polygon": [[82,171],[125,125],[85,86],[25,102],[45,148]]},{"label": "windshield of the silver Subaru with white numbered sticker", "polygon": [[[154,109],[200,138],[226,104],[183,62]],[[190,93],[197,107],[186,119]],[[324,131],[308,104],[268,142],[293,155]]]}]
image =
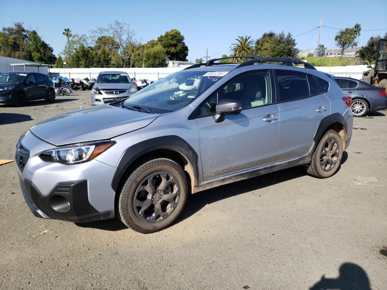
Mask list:
[{"label": "windshield of the silver Subaru with white numbered sticker", "polygon": [[228,72],[180,71],[140,90],[124,101],[127,106],[142,106],[154,113],[168,113],[187,106]]}]

